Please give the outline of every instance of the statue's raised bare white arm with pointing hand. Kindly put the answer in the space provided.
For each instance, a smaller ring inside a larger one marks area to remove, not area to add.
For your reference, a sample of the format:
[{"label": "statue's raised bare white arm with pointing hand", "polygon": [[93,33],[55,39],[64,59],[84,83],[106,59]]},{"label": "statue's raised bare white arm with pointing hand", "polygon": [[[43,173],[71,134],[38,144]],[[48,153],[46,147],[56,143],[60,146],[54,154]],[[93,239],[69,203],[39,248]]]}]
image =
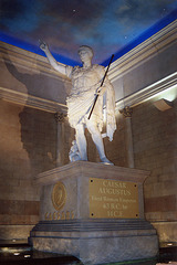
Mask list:
[{"label": "statue's raised bare white arm with pointing hand", "polygon": [[52,67],[56,70],[59,73],[65,75],[65,66],[62,64],[58,64],[56,60],[51,54],[49,46],[44,41],[40,41],[40,49],[45,53]]}]

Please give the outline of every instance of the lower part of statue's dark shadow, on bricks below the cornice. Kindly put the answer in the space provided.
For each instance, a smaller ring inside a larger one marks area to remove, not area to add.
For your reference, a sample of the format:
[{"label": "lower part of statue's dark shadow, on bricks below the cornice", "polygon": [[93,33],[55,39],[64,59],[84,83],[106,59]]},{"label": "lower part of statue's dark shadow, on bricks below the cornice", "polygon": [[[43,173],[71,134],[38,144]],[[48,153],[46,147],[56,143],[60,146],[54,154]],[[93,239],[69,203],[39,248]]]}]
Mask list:
[{"label": "lower part of statue's dark shadow, on bricks below the cornice", "polygon": [[32,174],[55,167],[56,121],[53,114],[24,107],[19,114],[21,141],[28,151]]}]

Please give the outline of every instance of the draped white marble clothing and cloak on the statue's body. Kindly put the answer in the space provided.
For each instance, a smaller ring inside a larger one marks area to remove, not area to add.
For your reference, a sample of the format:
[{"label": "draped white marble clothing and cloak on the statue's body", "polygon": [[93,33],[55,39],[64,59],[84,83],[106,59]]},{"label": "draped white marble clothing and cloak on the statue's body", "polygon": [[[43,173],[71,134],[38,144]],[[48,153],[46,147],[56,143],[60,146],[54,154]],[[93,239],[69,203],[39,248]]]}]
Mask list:
[{"label": "draped white marble clothing and cloak on the statue's body", "polygon": [[[86,124],[91,108],[93,106],[96,92],[105,74],[104,67],[97,64],[90,68],[80,66],[66,66],[66,75],[72,81],[72,89],[66,98],[67,117],[71,127],[75,128],[77,124]],[[115,120],[115,95],[114,88],[108,78],[104,82],[105,94],[98,95],[91,120],[98,126],[100,131],[103,129],[103,106],[106,106],[106,135],[110,140],[116,129]]]}]

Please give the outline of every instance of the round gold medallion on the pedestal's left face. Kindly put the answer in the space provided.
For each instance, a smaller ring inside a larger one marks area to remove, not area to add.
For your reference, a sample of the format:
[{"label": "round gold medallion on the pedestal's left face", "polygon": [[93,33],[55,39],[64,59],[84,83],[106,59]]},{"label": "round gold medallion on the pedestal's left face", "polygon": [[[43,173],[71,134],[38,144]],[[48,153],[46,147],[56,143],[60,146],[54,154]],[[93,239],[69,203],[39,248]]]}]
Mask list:
[{"label": "round gold medallion on the pedestal's left face", "polygon": [[65,187],[62,182],[59,181],[53,187],[52,191],[52,202],[56,211],[61,210],[64,206],[65,200],[66,200]]}]

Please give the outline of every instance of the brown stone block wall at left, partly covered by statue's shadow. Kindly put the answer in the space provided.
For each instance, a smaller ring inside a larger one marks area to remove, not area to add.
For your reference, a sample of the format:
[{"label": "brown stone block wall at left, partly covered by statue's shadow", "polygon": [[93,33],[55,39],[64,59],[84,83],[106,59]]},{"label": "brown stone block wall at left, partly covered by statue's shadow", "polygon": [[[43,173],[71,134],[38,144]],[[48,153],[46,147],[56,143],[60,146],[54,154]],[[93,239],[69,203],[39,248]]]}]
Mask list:
[{"label": "brown stone block wall at left, partly covered by statue's shadow", "polygon": [[33,178],[55,167],[56,121],[53,114],[1,99],[0,115],[0,239],[23,239],[39,220]]}]

